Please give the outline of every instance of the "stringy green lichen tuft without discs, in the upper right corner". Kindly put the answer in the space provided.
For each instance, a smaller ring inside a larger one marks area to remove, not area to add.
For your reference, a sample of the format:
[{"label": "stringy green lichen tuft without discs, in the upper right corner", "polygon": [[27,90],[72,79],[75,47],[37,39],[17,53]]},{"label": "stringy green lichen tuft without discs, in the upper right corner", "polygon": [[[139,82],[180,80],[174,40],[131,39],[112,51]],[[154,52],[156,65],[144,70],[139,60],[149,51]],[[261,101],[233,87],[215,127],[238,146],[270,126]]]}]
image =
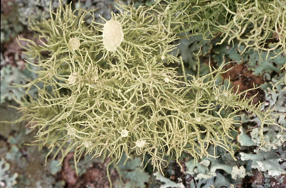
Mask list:
[{"label": "stringy green lichen tuft without discs, in the upper right corner", "polygon": [[[169,2],[169,1],[168,1]],[[222,44],[234,44],[238,40],[239,51],[243,54],[249,48],[258,51],[261,59],[268,58],[273,50],[279,54],[286,54],[286,2],[285,1],[178,1],[169,2],[178,12],[171,16],[181,16],[186,23],[175,27],[175,32],[192,31],[194,34],[203,34],[204,39],[220,36]],[[191,4],[191,6],[189,6]],[[182,12],[181,10],[186,10]],[[267,52],[261,57],[261,52]]]}]

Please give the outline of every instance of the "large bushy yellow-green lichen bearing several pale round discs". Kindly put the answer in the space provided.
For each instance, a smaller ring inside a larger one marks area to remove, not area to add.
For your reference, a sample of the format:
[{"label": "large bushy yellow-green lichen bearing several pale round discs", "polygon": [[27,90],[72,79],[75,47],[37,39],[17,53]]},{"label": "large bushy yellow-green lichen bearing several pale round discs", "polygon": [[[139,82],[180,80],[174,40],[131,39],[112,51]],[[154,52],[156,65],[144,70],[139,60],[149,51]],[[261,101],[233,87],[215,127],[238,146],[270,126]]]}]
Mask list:
[{"label": "large bushy yellow-green lichen bearing several pale round discs", "polygon": [[[238,146],[232,134],[239,111],[255,113],[262,128],[264,123],[275,124],[271,110],[261,112],[261,104],[245,97],[247,91],[216,84],[223,66],[210,67],[204,76],[199,66],[197,75],[188,76],[167,66],[181,63],[184,73],[182,58],[171,53],[176,48],[171,42],[176,32],[187,31],[185,23],[192,25],[188,10],[195,4],[186,5],[118,4],[120,13],[112,13],[111,19],[121,23],[124,37],[112,51],[103,44],[104,24],[85,23],[88,11],[60,4],[50,13],[52,19],[31,21],[43,45],[20,39],[30,42],[27,54],[37,58],[39,67],[38,77],[23,87],[28,93],[36,86],[38,97],[17,100],[24,114],[17,121],[28,120],[37,129],[35,144],[48,146],[50,153],[56,149],[53,157],[60,154],[60,162],[70,151],[75,163],[85,153],[111,156],[113,161],[123,153],[126,159],[132,152],[149,154],[153,167],[162,171],[168,158],[178,162],[182,153],[195,159],[210,156],[210,145],[224,148],[235,159]],[[43,51],[49,51],[48,59]],[[259,134],[263,144],[262,129]]]}]

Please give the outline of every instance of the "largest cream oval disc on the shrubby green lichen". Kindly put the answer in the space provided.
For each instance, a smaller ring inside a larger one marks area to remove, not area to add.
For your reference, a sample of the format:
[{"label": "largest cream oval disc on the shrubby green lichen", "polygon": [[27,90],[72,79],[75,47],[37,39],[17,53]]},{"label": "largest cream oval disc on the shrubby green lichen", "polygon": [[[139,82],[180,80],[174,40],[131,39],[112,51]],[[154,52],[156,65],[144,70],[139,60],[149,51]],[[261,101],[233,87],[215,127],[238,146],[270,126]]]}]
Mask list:
[{"label": "largest cream oval disc on the shrubby green lichen", "polygon": [[121,24],[115,20],[108,20],[103,27],[103,45],[108,51],[115,50],[123,40]]}]

